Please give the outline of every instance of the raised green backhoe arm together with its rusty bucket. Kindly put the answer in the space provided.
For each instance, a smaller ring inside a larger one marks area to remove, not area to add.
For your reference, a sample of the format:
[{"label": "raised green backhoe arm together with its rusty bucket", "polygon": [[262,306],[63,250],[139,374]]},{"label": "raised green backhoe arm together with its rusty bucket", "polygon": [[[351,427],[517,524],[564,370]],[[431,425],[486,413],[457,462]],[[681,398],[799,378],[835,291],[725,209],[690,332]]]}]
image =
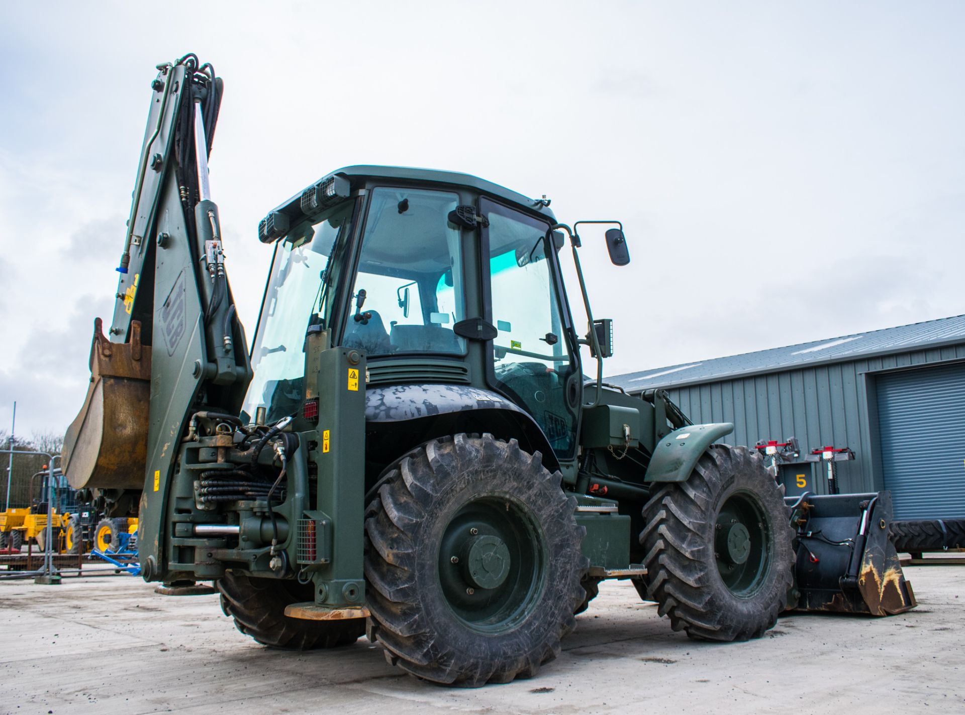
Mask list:
[{"label": "raised green backhoe arm together with its rusty bucket", "polygon": [[252,375],[207,190],[221,88],[194,55],[158,66],[118,303],[109,338],[98,321],[91,386],[65,437],[72,486],[98,490],[119,516],[143,490],[149,578],[163,558],[167,481],[188,420],[199,410],[236,414]]}]

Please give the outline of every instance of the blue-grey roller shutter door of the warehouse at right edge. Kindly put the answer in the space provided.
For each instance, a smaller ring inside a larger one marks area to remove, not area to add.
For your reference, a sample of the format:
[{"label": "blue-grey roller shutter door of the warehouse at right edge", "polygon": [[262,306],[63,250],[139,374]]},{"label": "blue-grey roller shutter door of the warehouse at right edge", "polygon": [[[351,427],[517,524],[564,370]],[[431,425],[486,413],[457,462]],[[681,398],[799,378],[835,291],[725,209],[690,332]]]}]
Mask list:
[{"label": "blue-grey roller shutter door of the warehouse at right edge", "polygon": [[877,390],[895,518],[965,516],[965,364],[882,375]]}]

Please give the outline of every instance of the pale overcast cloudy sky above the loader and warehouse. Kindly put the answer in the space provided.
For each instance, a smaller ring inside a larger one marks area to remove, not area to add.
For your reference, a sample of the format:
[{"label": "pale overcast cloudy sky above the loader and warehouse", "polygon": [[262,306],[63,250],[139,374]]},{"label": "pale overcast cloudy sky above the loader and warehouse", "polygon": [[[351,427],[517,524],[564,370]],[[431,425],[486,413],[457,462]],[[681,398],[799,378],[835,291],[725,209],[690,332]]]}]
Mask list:
[{"label": "pale overcast cloudy sky above the loader and warehouse", "polygon": [[83,401],[158,62],[225,79],[211,186],[249,338],[267,209],[424,166],[623,221],[629,266],[581,253],[612,375],[965,312],[963,32],[960,2],[4,3],[0,428]]}]

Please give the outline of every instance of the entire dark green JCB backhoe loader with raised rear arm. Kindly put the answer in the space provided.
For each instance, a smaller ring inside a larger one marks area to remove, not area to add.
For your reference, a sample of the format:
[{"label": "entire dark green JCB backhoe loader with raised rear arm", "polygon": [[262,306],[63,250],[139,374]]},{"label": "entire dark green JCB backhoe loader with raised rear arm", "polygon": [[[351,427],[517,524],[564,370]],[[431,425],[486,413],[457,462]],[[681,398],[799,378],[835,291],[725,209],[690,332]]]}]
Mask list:
[{"label": "entire dark green JCB backhoe loader with raised rear arm", "polygon": [[221,93],[193,54],[158,66],[117,305],[66,437],[71,484],[140,516],[145,579],[213,581],[267,646],[366,634],[462,686],[536,675],[607,578],[707,641],[788,607],[914,606],[887,492],[786,505],[731,424],[604,384],[612,322],[579,248],[595,235],[626,265],[617,221],[565,225],[464,173],[327,173],[258,226],[249,352],[208,184]]}]

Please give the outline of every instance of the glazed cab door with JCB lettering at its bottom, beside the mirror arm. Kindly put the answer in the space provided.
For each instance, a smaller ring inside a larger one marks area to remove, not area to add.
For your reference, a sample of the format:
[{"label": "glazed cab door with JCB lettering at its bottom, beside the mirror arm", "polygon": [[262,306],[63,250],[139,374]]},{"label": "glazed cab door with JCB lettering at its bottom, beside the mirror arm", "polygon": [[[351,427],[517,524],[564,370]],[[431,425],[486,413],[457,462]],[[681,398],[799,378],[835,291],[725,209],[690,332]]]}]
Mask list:
[{"label": "glazed cab door with JCB lettering at its bottom, beside the mirror arm", "polygon": [[570,459],[582,383],[554,234],[546,221],[489,199],[480,211],[485,313],[497,331],[488,383],[533,416],[558,459]]}]

